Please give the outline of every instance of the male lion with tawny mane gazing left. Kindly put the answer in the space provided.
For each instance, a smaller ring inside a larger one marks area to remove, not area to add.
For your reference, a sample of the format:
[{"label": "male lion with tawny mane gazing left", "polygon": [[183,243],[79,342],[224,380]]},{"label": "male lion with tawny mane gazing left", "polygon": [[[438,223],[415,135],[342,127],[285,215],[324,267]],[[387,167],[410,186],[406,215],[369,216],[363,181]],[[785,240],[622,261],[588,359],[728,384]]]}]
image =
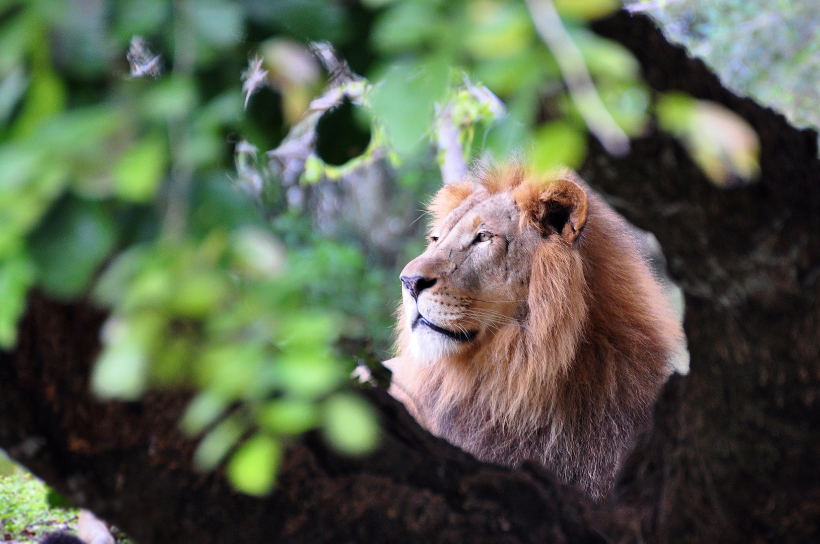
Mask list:
[{"label": "male lion with tawny mane gazing left", "polygon": [[478,459],[608,496],[683,333],[634,229],[567,171],[480,171],[430,203],[401,273],[390,392]]}]

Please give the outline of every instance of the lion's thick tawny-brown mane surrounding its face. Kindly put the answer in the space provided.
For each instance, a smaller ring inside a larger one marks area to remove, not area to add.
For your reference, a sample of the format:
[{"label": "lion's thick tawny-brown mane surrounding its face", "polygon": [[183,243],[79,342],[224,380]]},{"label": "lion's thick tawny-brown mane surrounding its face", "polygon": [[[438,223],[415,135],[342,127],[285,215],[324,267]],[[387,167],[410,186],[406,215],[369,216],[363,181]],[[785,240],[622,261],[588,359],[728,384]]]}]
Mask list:
[{"label": "lion's thick tawny-brown mane surrounding its face", "polygon": [[[391,388],[420,423],[478,459],[527,459],[608,496],[619,460],[647,427],[682,331],[635,230],[572,172],[588,212],[572,245],[532,255],[526,317],[435,364],[412,364]],[[521,222],[544,203],[522,167],[478,171],[430,203],[434,223],[476,194],[510,191]],[[400,310],[401,313],[401,310]],[[412,358],[399,316],[396,351]]]}]

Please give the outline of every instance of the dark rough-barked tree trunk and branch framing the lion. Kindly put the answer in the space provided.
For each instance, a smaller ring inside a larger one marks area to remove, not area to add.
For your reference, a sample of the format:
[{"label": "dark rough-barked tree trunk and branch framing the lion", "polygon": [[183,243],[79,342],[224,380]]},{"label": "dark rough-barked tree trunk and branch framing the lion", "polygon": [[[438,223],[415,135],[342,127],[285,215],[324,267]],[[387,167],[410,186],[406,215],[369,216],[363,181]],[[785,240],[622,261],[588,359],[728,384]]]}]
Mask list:
[{"label": "dark rough-barked tree trunk and branch framing the lion", "polygon": [[722,88],[642,16],[595,30],[630,48],[649,85],[730,107],[758,131],[757,185],[709,185],[674,140],[630,156],[590,142],[581,174],[653,231],[686,294],[691,372],[673,377],[612,501],[535,467],[482,464],[421,430],[383,391],[366,459],[316,434],[289,446],[277,491],[230,490],[190,463],[185,395],[94,401],[103,315],[34,294],[0,355],[0,446],[57,490],[154,542],[813,542],[820,523],[820,162],[817,136]]}]

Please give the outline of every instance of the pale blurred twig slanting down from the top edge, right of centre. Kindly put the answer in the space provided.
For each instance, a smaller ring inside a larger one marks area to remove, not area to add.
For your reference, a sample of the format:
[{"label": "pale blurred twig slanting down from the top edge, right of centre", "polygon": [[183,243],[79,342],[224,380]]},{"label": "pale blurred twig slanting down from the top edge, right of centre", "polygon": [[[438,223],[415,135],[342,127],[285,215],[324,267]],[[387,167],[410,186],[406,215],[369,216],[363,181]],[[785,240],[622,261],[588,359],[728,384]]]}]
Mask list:
[{"label": "pale blurred twig slanting down from the top edge, right of centre", "polygon": [[601,101],[590,71],[586,68],[584,56],[564,28],[552,0],[526,0],[526,5],[530,8],[535,30],[538,30],[541,39],[544,39],[558,61],[572,101],[590,132],[611,155],[622,156],[629,153],[629,136],[617,126]]}]

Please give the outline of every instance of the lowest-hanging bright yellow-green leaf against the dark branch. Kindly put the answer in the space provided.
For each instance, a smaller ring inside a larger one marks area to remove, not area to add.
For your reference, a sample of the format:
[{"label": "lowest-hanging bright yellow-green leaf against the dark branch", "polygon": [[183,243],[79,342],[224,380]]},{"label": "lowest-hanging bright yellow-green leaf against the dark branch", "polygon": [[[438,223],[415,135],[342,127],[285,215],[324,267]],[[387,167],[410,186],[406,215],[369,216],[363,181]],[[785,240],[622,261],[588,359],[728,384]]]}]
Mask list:
[{"label": "lowest-hanging bright yellow-green leaf against the dark branch", "polygon": [[259,433],[236,450],[228,464],[228,478],[239,491],[265,495],[273,487],[281,455],[279,441]]}]

